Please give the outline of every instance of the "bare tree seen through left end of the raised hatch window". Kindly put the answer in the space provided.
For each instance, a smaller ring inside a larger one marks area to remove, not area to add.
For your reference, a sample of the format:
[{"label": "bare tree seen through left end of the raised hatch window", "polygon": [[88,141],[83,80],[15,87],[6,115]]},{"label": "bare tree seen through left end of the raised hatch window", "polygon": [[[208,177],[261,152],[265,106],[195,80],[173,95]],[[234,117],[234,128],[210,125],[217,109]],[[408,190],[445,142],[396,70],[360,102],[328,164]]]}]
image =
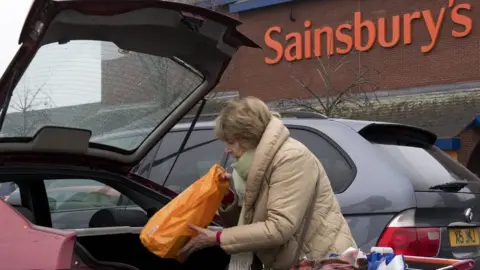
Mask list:
[{"label": "bare tree seen through left end of the raised hatch window", "polygon": [[16,113],[9,118],[11,130],[16,136],[31,135],[36,127],[49,121],[48,110],[52,108],[53,100],[45,93],[45,85],[46,82],[32,89],[25,83],[23,91],[16,91],[12,97],[10,109]]}]

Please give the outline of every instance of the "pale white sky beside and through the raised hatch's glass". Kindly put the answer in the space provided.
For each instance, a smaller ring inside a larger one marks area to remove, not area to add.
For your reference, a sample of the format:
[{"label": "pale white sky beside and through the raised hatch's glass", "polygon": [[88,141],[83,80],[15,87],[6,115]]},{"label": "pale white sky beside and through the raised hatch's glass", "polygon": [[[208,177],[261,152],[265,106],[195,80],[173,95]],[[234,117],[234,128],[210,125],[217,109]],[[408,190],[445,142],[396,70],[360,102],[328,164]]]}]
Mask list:
[{"label": "pale white sky beside and through the raised hatch's glass", "polygon": [[[32,0],[0,1],[2,53],[5,71],[19,48],[18,38]],[[41,87],[41,91],[37,91]],[[33,100],[35,96],[35,100]],[[43,46],[12,96],[7,113],[99,102],[101,47],[98,42],[70,42]],[[28,105],[27,105],[28,104]]]}]

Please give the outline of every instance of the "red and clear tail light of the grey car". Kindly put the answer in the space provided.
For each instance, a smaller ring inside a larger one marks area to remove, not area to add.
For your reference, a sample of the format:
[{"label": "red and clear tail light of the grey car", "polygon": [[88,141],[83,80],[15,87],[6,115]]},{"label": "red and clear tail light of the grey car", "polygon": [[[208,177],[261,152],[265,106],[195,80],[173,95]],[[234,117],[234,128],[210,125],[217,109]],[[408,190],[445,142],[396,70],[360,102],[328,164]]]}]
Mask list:
[{"label": "red and clear tail light of the grey car", "polygon": [[435,257],[440,250],[440,228],[415,227],[415,210],[396,216],[385,228],[377,246],[391,247],[396,254]]}]

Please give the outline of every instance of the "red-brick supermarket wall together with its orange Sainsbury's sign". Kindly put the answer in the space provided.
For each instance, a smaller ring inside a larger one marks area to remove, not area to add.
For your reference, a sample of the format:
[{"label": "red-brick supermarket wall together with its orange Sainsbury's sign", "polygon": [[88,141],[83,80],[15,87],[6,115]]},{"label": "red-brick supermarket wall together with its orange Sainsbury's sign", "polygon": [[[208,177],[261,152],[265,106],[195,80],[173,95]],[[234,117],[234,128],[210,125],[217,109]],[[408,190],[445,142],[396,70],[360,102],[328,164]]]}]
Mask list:
[{"label": "red-brick supermarket wall together with its orange Sainsbury's sign", "polygon": [[338,89],[362,68],[377,91],[480,79],[480,0],[239,2],[229,10],[263,49],[242,49],[222,89],[264,100],[309,97],[292,68],[322,89],[317,57],[325,65],[346,62],[332,75]]}]

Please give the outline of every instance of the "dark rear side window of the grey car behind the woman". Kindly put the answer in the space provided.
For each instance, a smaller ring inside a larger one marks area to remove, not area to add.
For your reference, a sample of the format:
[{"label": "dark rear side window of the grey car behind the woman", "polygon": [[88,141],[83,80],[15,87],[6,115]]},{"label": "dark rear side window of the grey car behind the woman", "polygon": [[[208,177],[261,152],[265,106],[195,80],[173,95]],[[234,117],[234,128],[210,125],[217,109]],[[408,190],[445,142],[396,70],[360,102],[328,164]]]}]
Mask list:
[{"label": "dark rear side window of the grey car behind the woman", "polygon": [[352,183],[355,170],[332,144],[316,133],[290,128],[292,138],[302,142],[320,160],[333,192],[341,193]]}]

